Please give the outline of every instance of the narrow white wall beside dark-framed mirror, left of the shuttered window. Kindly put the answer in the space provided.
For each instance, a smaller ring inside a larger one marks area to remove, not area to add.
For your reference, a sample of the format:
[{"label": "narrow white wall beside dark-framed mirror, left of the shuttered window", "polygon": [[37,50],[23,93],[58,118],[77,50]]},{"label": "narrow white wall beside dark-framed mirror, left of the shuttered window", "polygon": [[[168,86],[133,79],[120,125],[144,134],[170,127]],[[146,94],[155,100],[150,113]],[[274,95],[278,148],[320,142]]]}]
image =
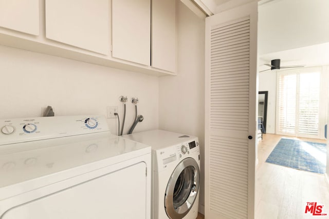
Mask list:
[{"label": "narrow white wall beside dark-framed mirror, left of the shuttered window", "polygon": [[266,133],[276,132],[277,74],[276,71],[259,73],[259,91],[268,91]]}]

